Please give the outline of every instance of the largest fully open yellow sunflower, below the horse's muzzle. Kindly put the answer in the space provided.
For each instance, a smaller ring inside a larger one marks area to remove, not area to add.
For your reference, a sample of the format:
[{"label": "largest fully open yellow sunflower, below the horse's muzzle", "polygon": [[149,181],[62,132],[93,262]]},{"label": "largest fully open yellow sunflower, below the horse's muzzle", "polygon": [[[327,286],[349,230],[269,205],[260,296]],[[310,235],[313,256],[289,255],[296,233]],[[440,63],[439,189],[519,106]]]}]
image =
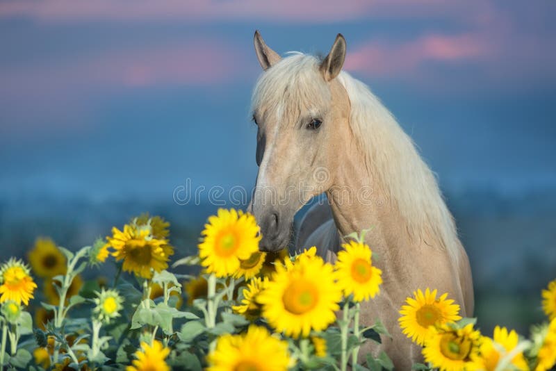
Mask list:
[{"label": "largest fully open yellow sunflower, below the horse's muzzle", "polygon": [[258,301],[272,327],[294,338],[321,331],[336,320],[341,290],[334,282],[334,268],[316,256],[294,264],[276,265],[277,272]]}]

